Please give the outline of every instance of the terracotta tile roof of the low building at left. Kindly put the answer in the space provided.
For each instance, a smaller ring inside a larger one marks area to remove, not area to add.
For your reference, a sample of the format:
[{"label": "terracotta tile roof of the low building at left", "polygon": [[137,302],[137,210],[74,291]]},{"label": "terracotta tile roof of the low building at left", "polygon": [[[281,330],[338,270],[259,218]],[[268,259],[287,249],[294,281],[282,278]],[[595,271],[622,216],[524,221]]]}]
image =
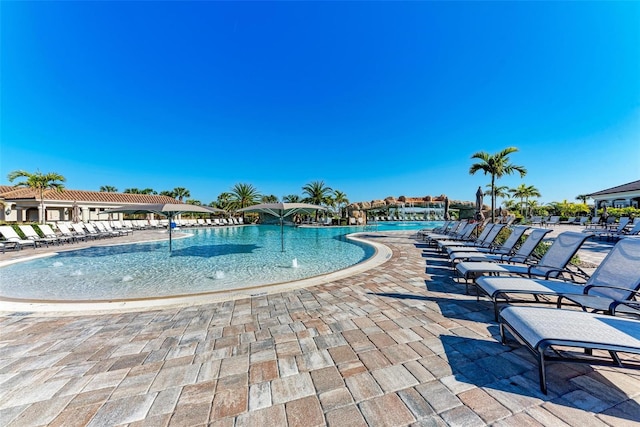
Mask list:
[{"label": "terracotta tile roof of the low building at left", "polygon": [[[0,186],[0,198],[5,200],[38,199],[40,196],[31,188]],[[175,203],[176,200],[168,196],[153,196],[147,194],[107,193],[100,191],[68,190],[62,192],[45,190],[45,200],[103,202],[114,204],[130,203]]]}]

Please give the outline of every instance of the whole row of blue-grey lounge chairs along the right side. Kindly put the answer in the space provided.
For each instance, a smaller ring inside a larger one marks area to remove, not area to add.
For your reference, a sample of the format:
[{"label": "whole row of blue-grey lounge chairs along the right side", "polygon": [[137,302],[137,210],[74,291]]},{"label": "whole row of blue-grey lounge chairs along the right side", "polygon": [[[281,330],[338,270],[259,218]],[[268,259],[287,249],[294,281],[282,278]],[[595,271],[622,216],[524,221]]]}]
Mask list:
[{"label": "whole row of blue-grey lounge chairs along the right side", "polygon": [[[511,236],[529,234],[511,251],[491,243],[491,231],[473,242],[459,234],[458,239],[449,239],[443,231],[424,232],[421,238],[446,253],[467,291],[471,281],[478,300],[485,296],[491,300],[502,342],[508,332],[535,355],[543,393],[547,393],[548,361],[637,366],[637,361],[623,363],[619,353],[640,354],[640,237],[621,238],[587,275],[567,266],[583,242],[593,237],[589,233],[563,232],[536,259],[524,253],[514,256],[525,245],[537,246],[550,230],[514,227]],[[456,241],[460,246],[453,244]],[[456,263],[460,258],[464,260]],[[556,308],[522,303],[551,303]]]}]

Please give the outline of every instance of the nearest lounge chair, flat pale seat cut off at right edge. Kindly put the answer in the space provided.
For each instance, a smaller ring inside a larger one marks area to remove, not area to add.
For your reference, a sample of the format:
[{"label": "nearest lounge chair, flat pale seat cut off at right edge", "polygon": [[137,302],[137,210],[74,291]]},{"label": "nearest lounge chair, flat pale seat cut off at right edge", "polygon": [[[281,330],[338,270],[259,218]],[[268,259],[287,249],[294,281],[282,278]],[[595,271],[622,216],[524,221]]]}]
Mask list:
[{"label": "nearest lounge chair, flat pale seat cut off at right edge", "polygon": [[[640,321],[634,319],[574,310],[510,306],[500,312],[503,344],[506,343],[506,331],[537,358],[540,390],[544,394],[547,394],[547,361],[624,366],[618,353],[640,354]],[[570,352],[570,348],[584,351]],[[611,360],[594,355],[593,350],[607,351]]]}]

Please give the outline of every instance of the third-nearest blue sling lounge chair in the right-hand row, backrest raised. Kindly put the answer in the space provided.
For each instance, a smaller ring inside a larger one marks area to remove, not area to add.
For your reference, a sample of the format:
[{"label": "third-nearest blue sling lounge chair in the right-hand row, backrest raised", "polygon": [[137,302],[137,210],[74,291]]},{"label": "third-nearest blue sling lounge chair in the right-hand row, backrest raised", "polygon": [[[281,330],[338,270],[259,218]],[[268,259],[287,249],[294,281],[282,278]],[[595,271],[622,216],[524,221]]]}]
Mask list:
[{"label": "third-nearest blue sling lounge chair in the right-hand row, backrest raised", "polygon": [[469,280],[475,281],[477,277],[484,274],[539,276],[545,279],[563,277],[563,274],[571,274],[572,277],[576,275],[584,276],[581,270],[568,271],[566,266],[584,241],[590,237],[591,235],[589,234],[565,231],[554,239],[547,252],[537,263],[528,262],[522,265],[514,265],[487,261],[464,261],[456,265],[456,272],[465,279],[467,291]]}]

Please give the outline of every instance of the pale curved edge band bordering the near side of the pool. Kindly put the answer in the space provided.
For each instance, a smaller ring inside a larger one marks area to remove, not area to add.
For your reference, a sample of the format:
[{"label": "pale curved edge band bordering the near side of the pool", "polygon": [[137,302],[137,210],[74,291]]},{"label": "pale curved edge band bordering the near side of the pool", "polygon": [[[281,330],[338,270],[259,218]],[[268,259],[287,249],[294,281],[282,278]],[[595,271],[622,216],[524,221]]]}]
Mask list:
[{"label": "pale curved edge band bordering the near side of the pool", "polygon": [[246,288],[211,291],[189,295],[108,301],[59,302],[49,300],[0,297],[0,315],[16,315],[16,313],[18,313],[24,316],[76,316],[98,315],[105,312],[110,313],[126,311],[147,311],[176,306],[202,305],[221,301],[238,300],[243,298],[269,295],[272,293],[293,289],[322,285],[371,270],[372,268],[382,265],[389,259],[391,259],[393,252],[388,246],[380,242],[362,238],[360,235],[363,234],[367,233],[352,233],[348,234],[346,238],[371,246],[374,249],[373,256],[341,270],[333,271],[331,273],[322,274],[319,276],[308,277],[306,279],[296,280],[293,282],[272,283],[267,285],[257,285]]}]

